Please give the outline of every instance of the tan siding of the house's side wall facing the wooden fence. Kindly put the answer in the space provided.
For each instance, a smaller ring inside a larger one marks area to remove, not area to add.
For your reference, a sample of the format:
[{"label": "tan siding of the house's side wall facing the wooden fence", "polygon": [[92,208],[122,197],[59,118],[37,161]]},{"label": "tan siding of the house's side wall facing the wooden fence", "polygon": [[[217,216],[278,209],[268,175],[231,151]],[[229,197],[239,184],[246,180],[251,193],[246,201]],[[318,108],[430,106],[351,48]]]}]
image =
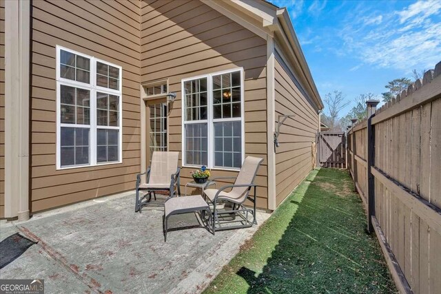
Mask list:
[{"label": "tan siding of the house's side wall facing the wooden fence", "polygon": [[276,59],[276,119],[295,114],[280,128],[276,149],[276,204],[280,204],[311,170],[311,145],[318,129],[318,115],[290,74]]}]

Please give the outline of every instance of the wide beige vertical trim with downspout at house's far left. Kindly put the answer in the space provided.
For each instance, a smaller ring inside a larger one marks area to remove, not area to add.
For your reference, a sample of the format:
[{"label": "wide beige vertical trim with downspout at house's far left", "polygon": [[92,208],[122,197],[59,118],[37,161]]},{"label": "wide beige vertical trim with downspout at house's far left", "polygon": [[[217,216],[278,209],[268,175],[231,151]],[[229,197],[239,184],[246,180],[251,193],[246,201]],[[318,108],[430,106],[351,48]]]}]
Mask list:
[{"label": "wide beige vertical trim with downspout at house's far left", "polygon": [[30,1],[5,1],[5,211],[28,220]]}]

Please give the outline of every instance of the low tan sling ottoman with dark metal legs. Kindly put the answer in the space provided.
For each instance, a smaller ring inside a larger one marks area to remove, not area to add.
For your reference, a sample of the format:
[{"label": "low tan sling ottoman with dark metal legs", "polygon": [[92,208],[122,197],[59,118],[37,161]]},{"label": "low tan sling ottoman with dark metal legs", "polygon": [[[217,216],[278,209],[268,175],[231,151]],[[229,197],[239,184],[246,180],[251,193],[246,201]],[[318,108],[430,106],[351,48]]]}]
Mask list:
[{"label": "low tan sling ottoman with dark metal legs", "polygon": [[201,213],[201,220],[205,220],[205,211],[207,211],[209,220],[207,229],[210,231],[212,226],[212,233],[214,233],[214,223],[212,222],[212,211],[209,205],[202,198],[201,195],[174,197],[167,200],[164,204],[164,242],[167,242],[167,220],[170,216],[181,213],[198,212]]}]

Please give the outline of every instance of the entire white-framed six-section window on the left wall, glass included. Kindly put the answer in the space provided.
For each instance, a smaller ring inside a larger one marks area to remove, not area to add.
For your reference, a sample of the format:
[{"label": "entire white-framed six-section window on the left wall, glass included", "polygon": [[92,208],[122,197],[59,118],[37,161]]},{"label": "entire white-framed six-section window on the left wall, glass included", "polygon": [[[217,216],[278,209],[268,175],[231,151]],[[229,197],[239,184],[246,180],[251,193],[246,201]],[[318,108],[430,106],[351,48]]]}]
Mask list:
[{"label": "entire white-framed six-section window on the left wall, glass included", "polygon": [[122,161],[122,68],[57,45],[57,169]]}]

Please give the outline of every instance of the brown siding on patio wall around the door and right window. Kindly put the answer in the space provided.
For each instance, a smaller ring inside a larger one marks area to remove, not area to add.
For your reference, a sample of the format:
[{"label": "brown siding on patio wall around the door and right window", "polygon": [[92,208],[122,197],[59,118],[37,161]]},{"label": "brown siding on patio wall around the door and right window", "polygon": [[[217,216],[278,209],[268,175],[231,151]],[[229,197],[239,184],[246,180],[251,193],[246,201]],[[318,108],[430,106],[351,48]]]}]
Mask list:
[{"label": "brown siding on patio wall around the door and right window", "polygon": [[[181,79],[245,69],[245,153],[264,158],[256,179],[258,207],[267,208],[266,41],[200,1],[143,1],[141,82],[168,78],[176,92],[170,151],[181,151]],[[181,183],[191,178],[183,169]],[[212,171],[214,176],[235,176]]]}]

